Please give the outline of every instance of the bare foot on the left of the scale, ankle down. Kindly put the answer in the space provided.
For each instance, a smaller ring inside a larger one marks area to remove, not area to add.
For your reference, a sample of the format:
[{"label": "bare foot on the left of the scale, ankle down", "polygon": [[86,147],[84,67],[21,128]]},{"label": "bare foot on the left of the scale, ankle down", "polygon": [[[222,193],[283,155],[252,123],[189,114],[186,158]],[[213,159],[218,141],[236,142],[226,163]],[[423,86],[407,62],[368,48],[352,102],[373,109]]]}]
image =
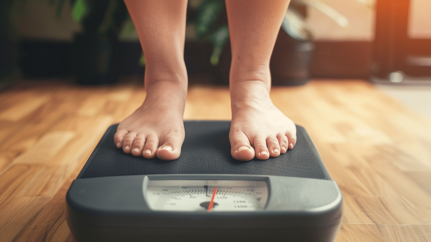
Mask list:
[{"label": "bare foot on the left of the scale, ankle down", "polygon": [[114,142],[125,153],[151,159],[177,159],[184,141],[187,86],[159,81],[147,88],[144,103],[117,128]]}]

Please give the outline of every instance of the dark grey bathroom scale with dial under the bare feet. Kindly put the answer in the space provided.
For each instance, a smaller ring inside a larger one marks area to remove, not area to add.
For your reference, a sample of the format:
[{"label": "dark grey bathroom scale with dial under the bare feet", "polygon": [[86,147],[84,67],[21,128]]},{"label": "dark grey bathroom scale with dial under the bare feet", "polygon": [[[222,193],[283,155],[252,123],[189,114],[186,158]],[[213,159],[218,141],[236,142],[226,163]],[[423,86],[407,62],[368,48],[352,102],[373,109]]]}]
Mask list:
[{"label": "dark grey bathroom scale with dial under the bare feet", "polygon": [[331,242],[342,196],[303,127],[292,150],[232,158],[230,121],[184,121],[178,159],[126,154],[108,128],[66,195],[77,242]]}]

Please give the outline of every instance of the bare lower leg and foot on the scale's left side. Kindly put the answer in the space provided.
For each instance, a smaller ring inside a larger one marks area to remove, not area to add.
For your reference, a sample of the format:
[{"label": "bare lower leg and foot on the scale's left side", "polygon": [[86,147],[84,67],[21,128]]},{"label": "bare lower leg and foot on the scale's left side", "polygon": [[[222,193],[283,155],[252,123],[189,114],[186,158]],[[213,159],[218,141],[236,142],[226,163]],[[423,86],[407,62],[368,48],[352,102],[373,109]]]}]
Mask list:
[{"label": "bare lower leg and foot on the scale's left side", "polygon": [[141,107],[119,124],[114,142],[134,156],[176,159],[184,141],[187,0],[126,0],[125,3],[144,51],[147,96]]}]

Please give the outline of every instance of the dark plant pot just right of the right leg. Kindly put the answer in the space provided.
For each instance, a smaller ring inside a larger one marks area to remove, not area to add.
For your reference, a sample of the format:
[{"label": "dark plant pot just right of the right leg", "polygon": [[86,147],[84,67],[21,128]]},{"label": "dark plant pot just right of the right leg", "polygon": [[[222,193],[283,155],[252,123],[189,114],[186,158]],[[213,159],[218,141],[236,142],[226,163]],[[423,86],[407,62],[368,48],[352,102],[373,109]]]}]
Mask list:
[{"label": "dark plant pot just right of the right leg", "polygon": [[281,28],[270,62],[272,84],[299,86],[307,83],[313,49],[311,40],[294,39]]}]

